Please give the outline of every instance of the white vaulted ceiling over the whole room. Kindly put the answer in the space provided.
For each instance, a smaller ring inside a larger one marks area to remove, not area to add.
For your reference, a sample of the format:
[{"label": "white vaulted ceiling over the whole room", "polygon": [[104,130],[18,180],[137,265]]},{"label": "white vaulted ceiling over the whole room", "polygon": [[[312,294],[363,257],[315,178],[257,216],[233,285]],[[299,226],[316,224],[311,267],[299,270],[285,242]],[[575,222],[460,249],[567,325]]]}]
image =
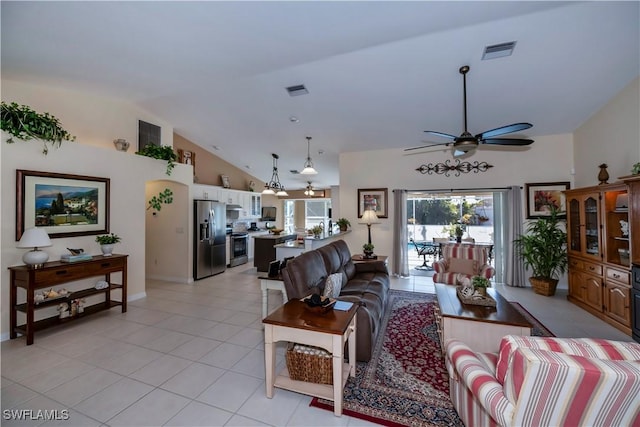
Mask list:
[{"label": "white vaulted ceiling over the whole room", "polygon": [[[465,64],[471,133],[574,131],[639,75],[639,4],[3,0],[2,76],[130,99],[265,181],[277,153],[288,189],[311,136],[326,187],[341,152],[460,134]],[[508,41],[512,56],[481,61]],[[290,97],[297,84],[309,94]]]}]

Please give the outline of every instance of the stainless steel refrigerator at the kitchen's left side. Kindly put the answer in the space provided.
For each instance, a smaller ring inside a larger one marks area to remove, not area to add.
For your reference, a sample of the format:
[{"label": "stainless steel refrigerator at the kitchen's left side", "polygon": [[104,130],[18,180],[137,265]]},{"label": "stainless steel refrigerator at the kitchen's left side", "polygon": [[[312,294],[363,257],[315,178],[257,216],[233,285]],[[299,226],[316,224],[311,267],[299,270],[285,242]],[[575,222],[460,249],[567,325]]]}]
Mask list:
[{"label": "stainless steel refrigerator at the kitchen's left side", "polygon": [[227,212],[224,203],[194,200],[193,278],[222,273],[226,265]]}]

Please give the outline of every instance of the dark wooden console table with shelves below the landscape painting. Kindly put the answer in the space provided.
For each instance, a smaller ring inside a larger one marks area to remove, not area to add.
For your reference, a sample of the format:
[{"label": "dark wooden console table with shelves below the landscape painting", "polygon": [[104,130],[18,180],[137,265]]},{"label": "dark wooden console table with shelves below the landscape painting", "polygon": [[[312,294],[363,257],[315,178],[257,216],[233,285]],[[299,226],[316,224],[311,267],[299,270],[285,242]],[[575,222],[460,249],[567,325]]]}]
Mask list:
[{"label": "dark wooden console table with shelves below the landscape painting", "polygon": [[[26,265],[9,267],[11,272],[11,313],[10,313],[10,337],[16,338],[18,333],[27,336],[27,345],[33,344],[35,331],[59,325],[61,323],[75,320],[101,310],[108,310],[111,307],[122,306],[122,312],[127,311],[127,257],[128,255],[103,256],[96,255],[88,261],[61,262],[51,261],[44,264],[42,268],[29,268]],[[121,273],[122,283],[111,282],[111,273]],[[36,304],[35,291],[43,288],[53,288],[64,283],[89,277],[104,276],[109,286],[105,289],[87,288],[74,291],[61,298],[44,300]],[[18,288],[26,292],[26,302],[18,304]],[[122,291],[121,301],[111,299],[111,291],[120,289]],[[51,307],[60,303],[68,303],[78,298],[86,298],[91,295],[105,294],[105,301],[87,306],[84,313],[74,317],[60,319],[59,316],[48,317],[35,320],[35,311],[39,308]],[[18,325],[17,312],[21,311],[26,315],[26,322]]]}]

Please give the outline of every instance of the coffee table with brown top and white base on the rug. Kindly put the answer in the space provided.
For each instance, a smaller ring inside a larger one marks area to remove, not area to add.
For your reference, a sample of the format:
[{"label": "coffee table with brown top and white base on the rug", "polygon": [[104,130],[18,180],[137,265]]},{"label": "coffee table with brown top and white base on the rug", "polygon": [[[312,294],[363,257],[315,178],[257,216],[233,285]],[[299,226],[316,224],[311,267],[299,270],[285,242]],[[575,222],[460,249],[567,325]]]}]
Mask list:
[{"label": "coffee table with brown top and white base on the rug", "polygon": [[456,338],[472,350],[482,353],[496,353],[500,340],[505,335],[531,335],[531,325],[509,301],[495,289],[487,293],[496,300],[496,307],[463,304],[456,294],[456,287],[436,283],[438,309],[436,322],[440,343]]}]

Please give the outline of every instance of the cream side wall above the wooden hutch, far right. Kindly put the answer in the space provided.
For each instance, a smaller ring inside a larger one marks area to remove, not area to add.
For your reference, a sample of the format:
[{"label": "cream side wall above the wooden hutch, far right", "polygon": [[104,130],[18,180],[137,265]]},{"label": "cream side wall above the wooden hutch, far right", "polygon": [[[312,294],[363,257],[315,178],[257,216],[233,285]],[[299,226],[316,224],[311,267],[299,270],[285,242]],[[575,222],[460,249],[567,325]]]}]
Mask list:
[{"label": "cream side wall above the wooden hutch, far right", "polygon": [[597,185],[598,165],[609,167],[609,182],[631,175],[640,162],[640,79],[635,79],[574,133],[577,187]]}]

